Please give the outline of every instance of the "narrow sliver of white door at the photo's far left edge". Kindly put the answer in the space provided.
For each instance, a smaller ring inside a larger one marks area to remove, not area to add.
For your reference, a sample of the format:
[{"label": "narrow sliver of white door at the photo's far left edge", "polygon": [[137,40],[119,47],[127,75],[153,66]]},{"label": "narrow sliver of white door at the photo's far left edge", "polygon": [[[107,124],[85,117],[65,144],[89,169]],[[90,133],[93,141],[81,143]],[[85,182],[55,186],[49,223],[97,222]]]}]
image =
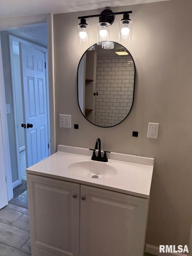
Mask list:
[{"label": "narrow sliver of white door at the photo's far left edge", "polygon": [[3,150],[3,138],[1,128],[1,112],[0,112],[0,209],[8,204],[7,183],[5,179],[5,162]]}]

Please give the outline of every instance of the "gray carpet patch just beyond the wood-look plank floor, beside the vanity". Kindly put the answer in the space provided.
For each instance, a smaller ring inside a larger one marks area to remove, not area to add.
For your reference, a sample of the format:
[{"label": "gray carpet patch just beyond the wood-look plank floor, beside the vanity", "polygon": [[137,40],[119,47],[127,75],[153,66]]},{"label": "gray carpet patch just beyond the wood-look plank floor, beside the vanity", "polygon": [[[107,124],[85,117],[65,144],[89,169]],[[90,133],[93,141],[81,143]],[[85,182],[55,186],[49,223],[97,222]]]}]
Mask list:
[{"label": "gray carpet patch just beyond the wood-look plank floor, beside the vanity", "polygon": [[22,179],[22,183],[13,188],[13,199],[10,203],[28,209],[27,181]]}]

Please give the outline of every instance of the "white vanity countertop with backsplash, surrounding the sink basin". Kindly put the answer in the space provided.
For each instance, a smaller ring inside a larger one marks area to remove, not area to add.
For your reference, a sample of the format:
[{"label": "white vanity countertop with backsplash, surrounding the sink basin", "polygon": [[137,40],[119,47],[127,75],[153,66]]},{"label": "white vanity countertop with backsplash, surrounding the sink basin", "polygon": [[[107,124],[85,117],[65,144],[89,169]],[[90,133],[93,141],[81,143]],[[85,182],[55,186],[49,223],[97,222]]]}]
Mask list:
[{"label": "white vanity countertop with backsplash, surrounding the sink basin", "polygon": [[153,158],[114,152],[107,153],[108,162],[105,164],[114,167],[118,173],[116,176],[105,179],[82,177],[68,170],[69,164],[77,161],[89,161],[91,155],[92,151],[88,149],[59,145],[58,152],[27,168],[26,172],[149,198]]}]

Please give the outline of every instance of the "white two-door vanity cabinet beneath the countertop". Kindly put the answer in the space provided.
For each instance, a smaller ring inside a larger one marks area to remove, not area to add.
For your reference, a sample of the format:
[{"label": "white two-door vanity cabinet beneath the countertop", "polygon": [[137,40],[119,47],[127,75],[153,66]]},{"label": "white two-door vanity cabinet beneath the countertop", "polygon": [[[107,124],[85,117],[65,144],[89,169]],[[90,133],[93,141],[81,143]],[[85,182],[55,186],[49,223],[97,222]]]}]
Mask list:
[{"label": "white two-door vanity cabinet beneath the countertop", "polygon": [[27,186],[32,256],[143,256],[147,198],[29,173]]}]

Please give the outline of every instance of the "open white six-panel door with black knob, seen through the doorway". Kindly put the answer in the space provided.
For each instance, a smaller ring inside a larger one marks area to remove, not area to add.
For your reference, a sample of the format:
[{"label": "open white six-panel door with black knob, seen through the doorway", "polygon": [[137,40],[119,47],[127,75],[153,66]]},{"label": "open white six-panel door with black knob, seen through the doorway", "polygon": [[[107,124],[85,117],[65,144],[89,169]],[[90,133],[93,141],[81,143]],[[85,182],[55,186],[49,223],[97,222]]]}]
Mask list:
[{"label": "open white six-panel door with black knob, seen through the doorway", "polygon": [[[45,54],[19,43],[26,167],[48,157]],[[27,128],[32,124],[32,128]]]}]

